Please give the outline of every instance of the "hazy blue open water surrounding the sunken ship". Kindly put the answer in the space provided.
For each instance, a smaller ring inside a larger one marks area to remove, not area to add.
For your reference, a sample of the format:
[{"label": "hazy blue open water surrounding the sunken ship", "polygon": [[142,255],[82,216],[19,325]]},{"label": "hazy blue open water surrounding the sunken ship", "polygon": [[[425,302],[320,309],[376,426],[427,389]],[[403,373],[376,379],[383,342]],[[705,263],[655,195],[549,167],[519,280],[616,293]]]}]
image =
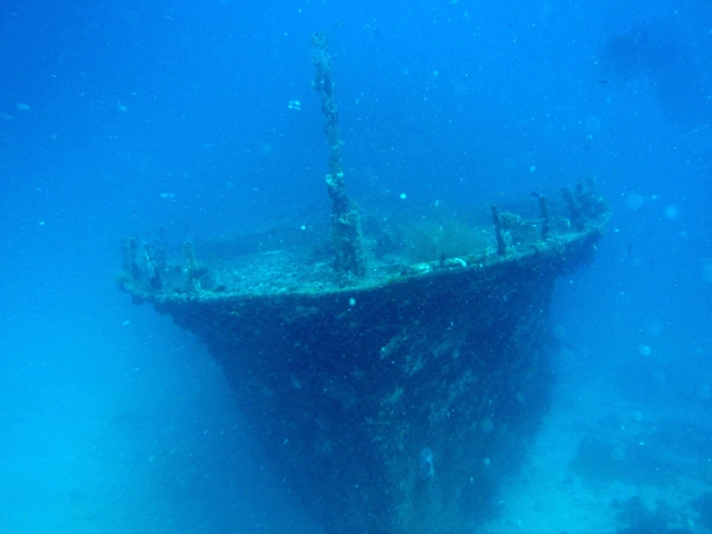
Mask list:
[{"label": "hazy blue open water surrounding the sunken ship", "polygon": [[[555,294],[558,400],[542,443],[574,444],[565,476],[507,481],[487,532],[615,532],[647,512],[709,532],[691,504],[712,491],[700,0],[6,0],[0,532],[320,532],[207,350],[113,285],[121,236],[164,225],[200,239],[326,201],[317,30],[360,204],[482,205],[595,175],[613,206],[595,261]],[[537,451],[534,465],[551,459]],[[586,513],[546,493],[513,512],[547,483],[589,498]]]}]

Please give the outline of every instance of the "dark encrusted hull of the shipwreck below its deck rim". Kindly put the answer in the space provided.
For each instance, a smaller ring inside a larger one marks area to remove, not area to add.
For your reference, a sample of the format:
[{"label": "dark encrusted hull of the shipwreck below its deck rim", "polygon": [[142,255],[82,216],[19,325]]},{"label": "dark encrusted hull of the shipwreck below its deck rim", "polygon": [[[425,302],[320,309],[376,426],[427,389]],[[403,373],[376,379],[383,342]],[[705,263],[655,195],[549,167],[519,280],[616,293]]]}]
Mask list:
[{"label": "dark encrusted hull of the shipwreck below its deck rim", "polygon": [[323,290],[123,287],[221,364],[259,443],[328,533],[461,533],[548,402],[555,279],[607,210],[501,254]]}]

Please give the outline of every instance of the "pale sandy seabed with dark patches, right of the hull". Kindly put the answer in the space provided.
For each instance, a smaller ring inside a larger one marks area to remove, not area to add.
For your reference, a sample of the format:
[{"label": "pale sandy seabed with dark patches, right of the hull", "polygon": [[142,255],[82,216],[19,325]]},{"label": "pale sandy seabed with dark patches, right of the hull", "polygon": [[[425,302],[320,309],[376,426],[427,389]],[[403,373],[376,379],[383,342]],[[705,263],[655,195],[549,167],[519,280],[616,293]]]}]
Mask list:
[{"label": "pale sandy seabed with dark patches, right of the hull", "polygon": [[[562,385],[497,517],[475,532],[712,532],[712,422]],[[704,422],[703,425],[701,422]]]}]

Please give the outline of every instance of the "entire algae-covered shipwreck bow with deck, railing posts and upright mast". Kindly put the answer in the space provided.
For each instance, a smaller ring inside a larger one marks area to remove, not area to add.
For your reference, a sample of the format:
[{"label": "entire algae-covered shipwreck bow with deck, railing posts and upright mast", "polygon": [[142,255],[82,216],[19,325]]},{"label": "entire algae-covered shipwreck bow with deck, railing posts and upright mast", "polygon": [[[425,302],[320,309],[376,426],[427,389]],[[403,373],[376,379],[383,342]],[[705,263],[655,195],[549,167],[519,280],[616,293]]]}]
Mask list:
[{"label": "entire algae-covered shipwreck bow with deck, railing posts and upright mast", "polygon": [[554,196],[384,216],[347,196],[326,37],[313,37],[330,217],[208,243],[122,241],[120,287],[195,333],[327,533],[461,533],[546,413],[557,277],[610,208]]}]

